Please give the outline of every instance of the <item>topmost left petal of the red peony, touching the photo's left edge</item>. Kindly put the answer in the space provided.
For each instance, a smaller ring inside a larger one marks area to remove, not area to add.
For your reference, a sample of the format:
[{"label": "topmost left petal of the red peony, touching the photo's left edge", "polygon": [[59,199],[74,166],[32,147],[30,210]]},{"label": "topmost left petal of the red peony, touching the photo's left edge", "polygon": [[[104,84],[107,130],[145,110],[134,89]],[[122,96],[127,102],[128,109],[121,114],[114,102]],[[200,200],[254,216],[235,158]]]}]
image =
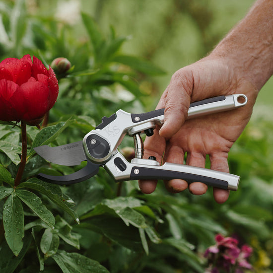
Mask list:
[{"label": "topmost left petal of the red peony, touching the photo's left edge", "polygon": [[22,59],[7,58],[0,63],[0,79],[12,80],[21,85],[31,76],[31,64],[27,57]]}]

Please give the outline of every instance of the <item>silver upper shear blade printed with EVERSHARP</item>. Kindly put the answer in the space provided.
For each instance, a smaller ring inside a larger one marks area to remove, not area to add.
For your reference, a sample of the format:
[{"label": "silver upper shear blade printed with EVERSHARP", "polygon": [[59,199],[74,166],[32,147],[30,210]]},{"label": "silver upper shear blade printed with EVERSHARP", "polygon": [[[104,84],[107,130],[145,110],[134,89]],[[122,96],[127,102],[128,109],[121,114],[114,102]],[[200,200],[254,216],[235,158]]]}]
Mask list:
[{"label": "silver upper shear blade printed with EVERSHARP", "polygon": [[86,160],[82,141],[57,147],[43,145],[35,147],[34,150],[47,161],[58,165],[76,166]]}]

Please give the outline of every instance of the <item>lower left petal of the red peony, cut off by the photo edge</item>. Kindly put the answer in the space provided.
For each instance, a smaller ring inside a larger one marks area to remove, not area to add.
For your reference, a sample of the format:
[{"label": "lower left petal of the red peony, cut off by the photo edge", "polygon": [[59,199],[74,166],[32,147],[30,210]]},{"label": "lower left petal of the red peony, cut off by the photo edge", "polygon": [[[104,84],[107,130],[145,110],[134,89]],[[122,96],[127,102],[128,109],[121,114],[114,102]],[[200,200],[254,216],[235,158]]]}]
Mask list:
[{"label": "lower left petal of the red peony, cut off by the photo edge", "polygon": [[0,80],[0,120],[20,121],[21,118],[16,109],[12,107],[11,97],[16,92],[18,85],[13,81]]}]

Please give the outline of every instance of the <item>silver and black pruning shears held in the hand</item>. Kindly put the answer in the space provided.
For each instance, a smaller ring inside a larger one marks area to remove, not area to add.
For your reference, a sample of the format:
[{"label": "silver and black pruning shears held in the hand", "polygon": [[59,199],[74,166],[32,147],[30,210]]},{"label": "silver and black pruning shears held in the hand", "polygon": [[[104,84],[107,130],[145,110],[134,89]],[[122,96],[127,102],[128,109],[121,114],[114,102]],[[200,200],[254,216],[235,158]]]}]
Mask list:
[{"label": "silver and black pruning shears held in the hand", "polygon": [[[247,103],[244,94],[218,96],[190,105],[188,119],[207,114],[232,110]],[[34,150],[49,162],[59,165],[76,166],[87,161],[85,167],[72,174],[52,176],[39,173],[39,177],[50,183],[68,185],[78,183],[96,175],[103,167],[116,182],[127,180],[183,179],[188,183],[203,182],[208,186],[236,191],[240,177],[188,165],[165,163],[160,165],[156,158],[143,159],[144,147],[141,134],[153,135],[156,125],[164,123],[164,109],[142,114],[130,114],[118,110],[110,117],[103,117],[95,130],[83,140],[57,147],[43,145]],[[119,152],[118,147],[125,135],[133,136],[135,157],[131,162]]]}]

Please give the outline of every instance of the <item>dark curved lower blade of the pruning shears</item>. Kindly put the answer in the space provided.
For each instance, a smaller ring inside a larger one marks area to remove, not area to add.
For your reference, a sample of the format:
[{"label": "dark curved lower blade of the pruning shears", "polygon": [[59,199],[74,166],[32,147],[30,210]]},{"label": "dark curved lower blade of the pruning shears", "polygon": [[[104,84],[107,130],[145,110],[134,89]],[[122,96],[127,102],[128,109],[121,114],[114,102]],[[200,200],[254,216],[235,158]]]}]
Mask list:
[{"label": "dark curved lower blade of the pruning shears", "polygon": [[53,184],[69,185],[87,180],[97,174],[98,171],[99,165],[87,160],[87,165],[75,173],[60,176],[39,173],[38,178]]}]

